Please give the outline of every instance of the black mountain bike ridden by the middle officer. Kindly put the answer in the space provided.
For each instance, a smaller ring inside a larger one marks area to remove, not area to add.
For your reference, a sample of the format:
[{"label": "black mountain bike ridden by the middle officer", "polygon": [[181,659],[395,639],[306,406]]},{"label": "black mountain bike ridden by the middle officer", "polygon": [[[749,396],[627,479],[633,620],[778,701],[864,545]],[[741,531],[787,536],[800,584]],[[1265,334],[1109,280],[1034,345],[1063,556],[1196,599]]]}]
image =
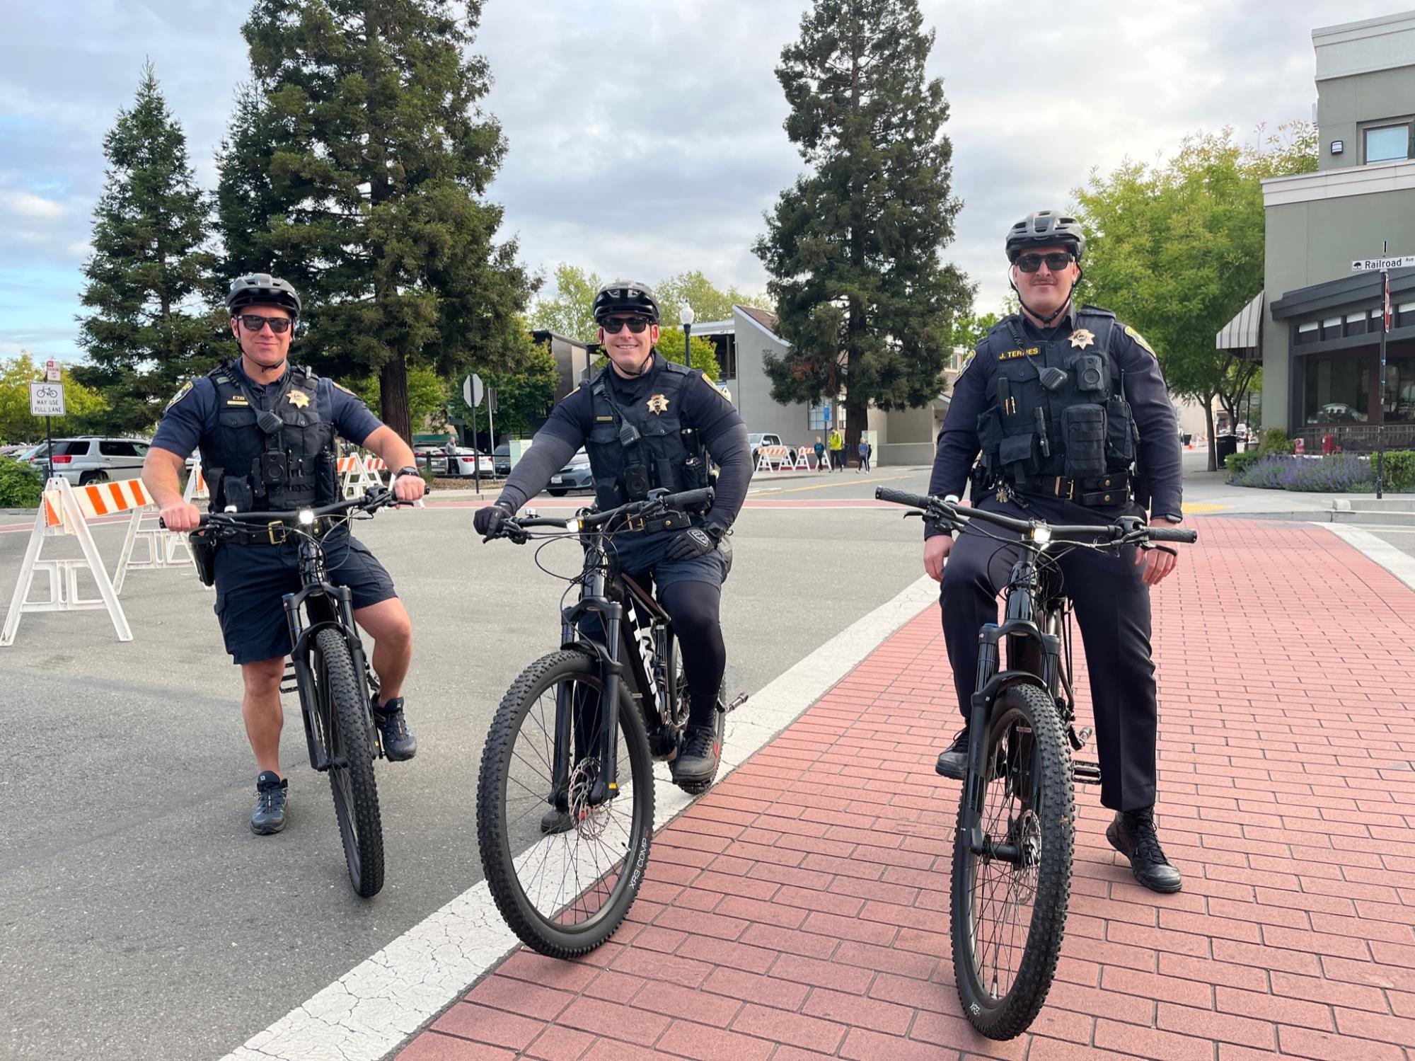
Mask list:
[{"label": "black mountain bike ridden by the middle officer", "polygon": [[[688,723],[674,624],[620,570],[614,539],[688,528],[712,499],[710,487],[654,491],[647,501],[573,519],[529,512],[507,519],[495,535],[521,545],[579,539],[584,550],[583,569],[566,591],[579,589],[577,600],[560,613],[560,649],[511,683],[492,717],[477,784],[487,886],[507,924],[541,953],[593,951],[628,914],[652,843],[654,761],[678,754]],[[570,532],[529,533],[535,528]],[[591,632],[583,628],[587,618]],[[746,699],[727,705],[719,695],[719,746],[727,712]],[[710,784],[683,788],[696,795]]]}]

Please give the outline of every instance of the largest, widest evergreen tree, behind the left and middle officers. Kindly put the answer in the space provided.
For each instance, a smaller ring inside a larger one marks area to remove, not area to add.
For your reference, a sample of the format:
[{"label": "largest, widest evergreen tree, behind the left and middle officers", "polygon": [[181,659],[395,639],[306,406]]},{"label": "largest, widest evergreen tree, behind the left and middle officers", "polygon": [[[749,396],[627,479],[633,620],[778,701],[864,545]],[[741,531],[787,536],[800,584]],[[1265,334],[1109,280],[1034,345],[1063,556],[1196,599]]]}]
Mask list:
[{"label": "largest, widest evergreen tree, behind the left and middle officers", "polygon": [[525,352],[532,283],[484,201],[505,140],[477,106],[488,66],[464,52],[480,16],[481,0],[262,0],[218,158],[226,272],[296,284],[297,358],[376,372],[405,439],[409,365],[446,379]]}]

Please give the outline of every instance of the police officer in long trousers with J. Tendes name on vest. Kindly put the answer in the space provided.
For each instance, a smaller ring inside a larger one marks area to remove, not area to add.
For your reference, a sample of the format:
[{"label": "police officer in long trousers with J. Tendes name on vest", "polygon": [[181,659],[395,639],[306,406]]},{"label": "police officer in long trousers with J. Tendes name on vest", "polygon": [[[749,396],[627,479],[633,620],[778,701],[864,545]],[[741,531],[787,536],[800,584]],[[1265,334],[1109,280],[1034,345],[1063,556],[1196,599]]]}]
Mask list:
[{"label": "police officer in long trousers with J. Tendes name on vest", "polygon": [[[988,332],[954,383],[930,494],[962,495],[972,471],[974,504],[1019,519],[1143,516],[1148,492],[1150,523],[1179,523],[1180,446],[1159,361],[1114,313],[1071,300],[1085,253],[1081,225],[1060,211],[1037,211],[1007,231],[1006,252],[1022,311]],[[957,542],[925,530],[924,569],[942,580],[944,638],[965,721],[938,757],[944,777],[966,772],[978,630],[998,621],[996,596],[1015,559],[1015,549],[999,549],[981,526]],[[1107,837],[1155,891],[1182,886],[1155,832],[1149,601],[1149,587],[1176,562],[1167,546],[1119,556],[1073,549],[1060,560],[1090,661],[1101,804],[1116,812]]]}]

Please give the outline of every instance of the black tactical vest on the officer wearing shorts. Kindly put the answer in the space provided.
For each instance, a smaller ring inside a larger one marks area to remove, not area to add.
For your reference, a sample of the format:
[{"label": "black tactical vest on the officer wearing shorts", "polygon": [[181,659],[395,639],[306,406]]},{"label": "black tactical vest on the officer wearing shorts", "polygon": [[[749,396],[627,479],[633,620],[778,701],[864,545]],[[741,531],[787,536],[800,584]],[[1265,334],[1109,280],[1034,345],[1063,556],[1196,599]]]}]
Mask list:
[{"label": "black tactical vest on the officer wearing shorts", "polygon": [[[216,426],[204,440],[201,464],[212,512],[226,505],[238,512],[286,511],[338,499],[334,424],[320,414],[318,376],[291,365],[263,395],[231,362],[208,378],[216,388]],[[266,409],[282,422],[269,434],[259,423]]]}]

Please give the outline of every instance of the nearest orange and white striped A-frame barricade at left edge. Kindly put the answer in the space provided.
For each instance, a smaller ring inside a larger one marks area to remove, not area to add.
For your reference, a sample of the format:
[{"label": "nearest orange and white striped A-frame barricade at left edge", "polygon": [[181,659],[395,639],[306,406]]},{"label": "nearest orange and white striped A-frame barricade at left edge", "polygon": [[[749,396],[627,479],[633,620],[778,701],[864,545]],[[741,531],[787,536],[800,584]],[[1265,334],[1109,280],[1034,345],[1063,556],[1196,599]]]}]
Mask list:
[{"label": "nearest orange and white striped A-frame barricade at left edge", "polygon": [[[78,489],[62,477],[50,480],[44,487],[44,497],[40,499],[40,511],[34,516],[34,532],[24,550],[24,562],[14,584],[14,596],[10,597],[10,611],[6,614],[4,630],[0,631],[0,645],[14,644],[14,635],[20,630],[20,618],[27,613],[92,611],[95,608],[108,610],[119,641],[132,641],[133,631],[127,625],[123,605],[117,603],[117,590],[113,589],[113,583],[108,577],[108,569],[103,567],[103,559],[98,555],[98,546],[93,545],[93,533],[88,521],[134,508],[142,509],[146,504],[147,494],[143,491],[140,480],[95,482]],[[83,556],[68,560],[40,559],[44,543],[61,535],[76,538]],[[78,581],[82,570],[88,570],[93,577],[99,591],[98,597],[79,597]],[[50,577],[50,597],[48,600],[31,601],[30,586],[34,576],[41,572]]]}]

